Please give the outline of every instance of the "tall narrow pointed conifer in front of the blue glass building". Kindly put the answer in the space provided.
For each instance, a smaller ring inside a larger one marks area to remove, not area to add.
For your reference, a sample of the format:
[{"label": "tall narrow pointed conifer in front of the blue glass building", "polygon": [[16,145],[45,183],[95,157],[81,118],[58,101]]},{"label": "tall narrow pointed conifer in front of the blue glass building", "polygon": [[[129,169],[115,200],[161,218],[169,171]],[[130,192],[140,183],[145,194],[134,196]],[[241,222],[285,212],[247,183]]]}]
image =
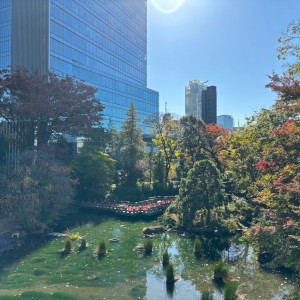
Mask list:
[{"label": "tall narrow pointed conifer in front of the blue glass building", "polygon": [[145,143],[142,139],[142,130],[138,125],[138,116],[133,101],[122,125],[121,139],[125,182],[129,186],[135,186],[139,177],[138,162],[144,156]]}]

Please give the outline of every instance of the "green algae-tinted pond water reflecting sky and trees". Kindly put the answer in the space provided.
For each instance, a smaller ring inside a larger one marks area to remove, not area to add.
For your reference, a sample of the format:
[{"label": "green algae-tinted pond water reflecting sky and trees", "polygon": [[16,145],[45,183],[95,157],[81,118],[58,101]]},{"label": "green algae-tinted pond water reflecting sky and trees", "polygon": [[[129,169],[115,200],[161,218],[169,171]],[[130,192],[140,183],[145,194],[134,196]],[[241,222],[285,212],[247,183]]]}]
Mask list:
[{"label": "green algae-tinted pond water reflecting sky and trees", "polygon": [[[143,243],[142,229],[153,222],[128,222],[96,215],[76,217],[79,232],[89,247],[61,255],[64,239],[40,243],[35,250],[18,252],[0,258],[0,299],[201,299],[204,291],[223,299],[223,288],[212,281],[215,262],[197,259],[193,241],[177,234],[161,234],[153,239],[150,256],[136,251]],[[65,225],[70,226],[72,222]],[[110,238],[120,239],[110,243]],[[108,254],[94,258],[101,240],[106,241]],[[163,252],[168,249],[179,279],[173,292],[166,290],[165,272],[161,266]],[[252,249],[241,247],[242,255],[230,262],[230,274],[238,279],[238,294],[244,299],[282,299],[297,288],[297,278],[266,272],[257,264]],[[228,255],[228,253],[227,253]],[[226,257],[226,253],[225,253]],[[2,266],[2,268],[1,268]]]}]

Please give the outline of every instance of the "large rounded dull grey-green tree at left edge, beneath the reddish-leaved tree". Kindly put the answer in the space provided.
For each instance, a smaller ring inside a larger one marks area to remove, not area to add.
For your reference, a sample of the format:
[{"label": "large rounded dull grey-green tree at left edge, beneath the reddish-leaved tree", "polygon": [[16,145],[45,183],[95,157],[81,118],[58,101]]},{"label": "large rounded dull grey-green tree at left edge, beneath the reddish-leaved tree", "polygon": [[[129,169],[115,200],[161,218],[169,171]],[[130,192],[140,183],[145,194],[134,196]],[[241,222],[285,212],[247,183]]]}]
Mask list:
[{"label": "large rounded dull grey-green tree at left edge, beneath the reddish-leaved tree", "polygon": [[[17,166],[8,165],[17,161]],[[0,175],[0,208],[25,229],[47,223],[73,197],[69,169],[43,151],[26,151],[7,159]]]}]

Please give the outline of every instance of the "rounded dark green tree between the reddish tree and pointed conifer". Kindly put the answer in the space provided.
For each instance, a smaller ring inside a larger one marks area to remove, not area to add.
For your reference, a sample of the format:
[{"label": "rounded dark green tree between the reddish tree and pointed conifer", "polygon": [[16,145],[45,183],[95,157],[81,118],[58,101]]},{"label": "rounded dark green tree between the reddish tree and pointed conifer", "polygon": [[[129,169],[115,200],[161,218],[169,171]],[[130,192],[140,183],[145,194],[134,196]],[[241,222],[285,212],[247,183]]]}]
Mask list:
[{"label": "rounded dark green tree between the reddish tree and pointed conifer", "polygon": [[100,149],[85,145],[72,162],[80,200],[104,199],[114,182],[115,161]]}]

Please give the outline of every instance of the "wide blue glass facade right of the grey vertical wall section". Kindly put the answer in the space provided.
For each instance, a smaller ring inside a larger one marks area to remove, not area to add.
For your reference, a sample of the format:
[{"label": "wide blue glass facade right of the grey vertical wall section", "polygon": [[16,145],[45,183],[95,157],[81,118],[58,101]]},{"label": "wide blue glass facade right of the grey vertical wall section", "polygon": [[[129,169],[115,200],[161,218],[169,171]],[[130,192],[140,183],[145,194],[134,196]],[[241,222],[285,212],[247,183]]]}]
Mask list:
[{"label": "wide blue glass facade right of the grey vertical wall section", "polygon": [[158,112],[147,88],[147,3],[144,0],[50,0],[50,70],[98,89],[118,128],[133,100],[142,121]]}]

